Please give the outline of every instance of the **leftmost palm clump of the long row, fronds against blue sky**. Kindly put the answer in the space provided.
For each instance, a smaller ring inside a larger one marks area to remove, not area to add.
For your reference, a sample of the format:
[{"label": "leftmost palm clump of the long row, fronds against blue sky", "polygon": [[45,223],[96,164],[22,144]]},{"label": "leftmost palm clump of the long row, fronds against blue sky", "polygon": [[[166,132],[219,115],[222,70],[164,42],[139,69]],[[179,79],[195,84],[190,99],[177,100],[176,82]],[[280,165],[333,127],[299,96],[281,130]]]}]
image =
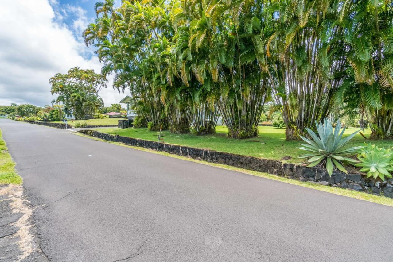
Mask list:
[{"label": "leftmost palm clump of the long row, fronds against blue sky", "polygon": [[163,14],[156,4],[159,3],[142,5],[138,1],[124,1],[116,9],[112,0],[98,2],[95,24],[88,26],[83,34],[86,45],[98,47],[96,53],[104,63],[103,75],[115,73],[114,88],[123,92],[129,89],[139,117],[152,122],[154,128],[165,122],[160,90],[152,86],[154,61],[149,29],[156,31],[156,26],[161,26],[156,16]]}]

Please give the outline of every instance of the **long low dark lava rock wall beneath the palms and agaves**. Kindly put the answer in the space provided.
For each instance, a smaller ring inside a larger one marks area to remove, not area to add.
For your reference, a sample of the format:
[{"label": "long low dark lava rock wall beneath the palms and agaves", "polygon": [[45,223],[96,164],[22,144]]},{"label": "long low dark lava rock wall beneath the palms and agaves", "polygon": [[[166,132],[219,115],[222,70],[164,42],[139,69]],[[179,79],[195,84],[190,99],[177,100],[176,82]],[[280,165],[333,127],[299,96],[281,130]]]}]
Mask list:
[{"label": "long low dark lava rock wall beneath the palms and agaves", "polygon": [[[79,132],[88,136],[98,137],[108,141],[120,142],[127,145],[154,150],[157,149],[157,142],[155,141],[115,136],[94,130],[81,130]],[[212,163],[219,163],[233,167],[239,167],[242,169],[284,176],[294,180],[310,181],[312,183],[318,183],[321,185],[342,187],[393,198],[393,179],[382,181],[377,178],[374,180],[373,178],[366,178],[360,173],[345,174],[339,170],[334,170],[332,176],[329,176],[326,169],[321,169],[318,167],[306,167],[305,165],[283,163],[278,160],[242,156],[238,154],[184,147],[167,143],[160,143],[158,150],[193,159],[205,160]]]}]

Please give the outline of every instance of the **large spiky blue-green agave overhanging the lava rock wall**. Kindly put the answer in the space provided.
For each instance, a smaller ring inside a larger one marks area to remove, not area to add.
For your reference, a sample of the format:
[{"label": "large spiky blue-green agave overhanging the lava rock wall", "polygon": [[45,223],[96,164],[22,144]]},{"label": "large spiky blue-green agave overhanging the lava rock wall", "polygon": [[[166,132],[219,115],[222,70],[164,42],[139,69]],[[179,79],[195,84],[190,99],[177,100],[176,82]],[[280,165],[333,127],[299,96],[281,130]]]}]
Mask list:
[{"label": "large spiky blue-green agave overhanging the lava rock wall", "polygon": [[[341,122],[340,119],[336,122],[336,127],[334,128],[328,119],[324,119],[323,124],[320,122],[319,124],[316,123],[316,127],[318,130],[317,136],[310,128],[306,128],[307,132],[309,133],[310,137],[313,140],[308,139],[306,137],[300,136],[307,144],[300,144],[303,147],[298,147],[299,149],[309,151],[309,154],[305,154],[299,156],[299,158],[308,158],[311,157],[308,162],[310,163],[307,167],[314,167],[321,163],[321,161],[326,162],[326,169],[329,173],[329,176],[332,175],[333,168],[336,167],[337,169],[341,170],[342,172],[347,173],[347,170],[343,167],[340,163],[342,161],[347,161],[350,163],[358,163],[352,158],[347,158],[345,155],[355,152],[356,150],[362,147],[351,147],[344,149],[343,147],[351,140],[357,132],[353,134],[343,137],[345,132],[346,126],[341,129]],[[322,162],[323,163],[323,162]]]}]

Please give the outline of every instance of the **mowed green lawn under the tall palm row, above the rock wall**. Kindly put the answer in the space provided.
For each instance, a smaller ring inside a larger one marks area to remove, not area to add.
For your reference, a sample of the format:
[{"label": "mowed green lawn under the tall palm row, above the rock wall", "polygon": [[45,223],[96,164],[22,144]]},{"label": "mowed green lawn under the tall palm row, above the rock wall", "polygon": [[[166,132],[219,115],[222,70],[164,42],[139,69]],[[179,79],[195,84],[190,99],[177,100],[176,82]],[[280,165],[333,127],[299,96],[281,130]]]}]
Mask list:
[{"label": "mowed green lawn under the tall palm row, above the rock wall", "polygon": [[[345,135],[352,134],[358,128],[348,128]],[[146,140],[157,141],[158,132],[149,131],[147,128],[99,128],[99,132],[114,134],[119,136],[127,136],[141,138]],[[296,147],[300,146],[301,141],[286,141],[285,129],[274,128],[272,126],[259,126],[259,136],[250,139],[229,139],[226,137],[227,128],[225,126],[217,126],[216,133],[206,136],[195,136],[192,134],[172,134],[169,130],[161,132],[163,142],[184,145],[187,147],[205,148],[210,150],[241,154],[246,156],[256,156],[260,158],[281,160],[285,156],[292,157],[283,160],[289,163],[301,163],[305,159],[299,159],[298,156],[306,152]],[[370,130],[362,132],[366,137],[369,136]],[[376,143],[380,147],[393,147],[392,140],[371,141],[364,139],[357,134],[347,145],[354,147],[363,145],[363,142]]]}]

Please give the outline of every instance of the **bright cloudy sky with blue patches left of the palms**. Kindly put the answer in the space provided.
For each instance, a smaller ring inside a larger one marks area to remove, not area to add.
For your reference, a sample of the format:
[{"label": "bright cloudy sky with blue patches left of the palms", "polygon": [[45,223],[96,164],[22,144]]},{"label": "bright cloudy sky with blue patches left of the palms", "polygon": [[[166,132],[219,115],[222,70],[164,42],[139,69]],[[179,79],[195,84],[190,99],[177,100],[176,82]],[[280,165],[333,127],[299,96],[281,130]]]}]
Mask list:
[{"label": "bright cloudy sky with blue patches left of the palms", "polygon": [[[94,49],[81,37],[95,19],[97,0],[11,0],[0,8],[0,105],[50,104],[49,79],[79,66],[101,71]],[[119,5],[120,0],[117,1]],[[105,105],[126,94],[108,88],[99,94]],[[126,91],[127,92],[127,91]]]}]

